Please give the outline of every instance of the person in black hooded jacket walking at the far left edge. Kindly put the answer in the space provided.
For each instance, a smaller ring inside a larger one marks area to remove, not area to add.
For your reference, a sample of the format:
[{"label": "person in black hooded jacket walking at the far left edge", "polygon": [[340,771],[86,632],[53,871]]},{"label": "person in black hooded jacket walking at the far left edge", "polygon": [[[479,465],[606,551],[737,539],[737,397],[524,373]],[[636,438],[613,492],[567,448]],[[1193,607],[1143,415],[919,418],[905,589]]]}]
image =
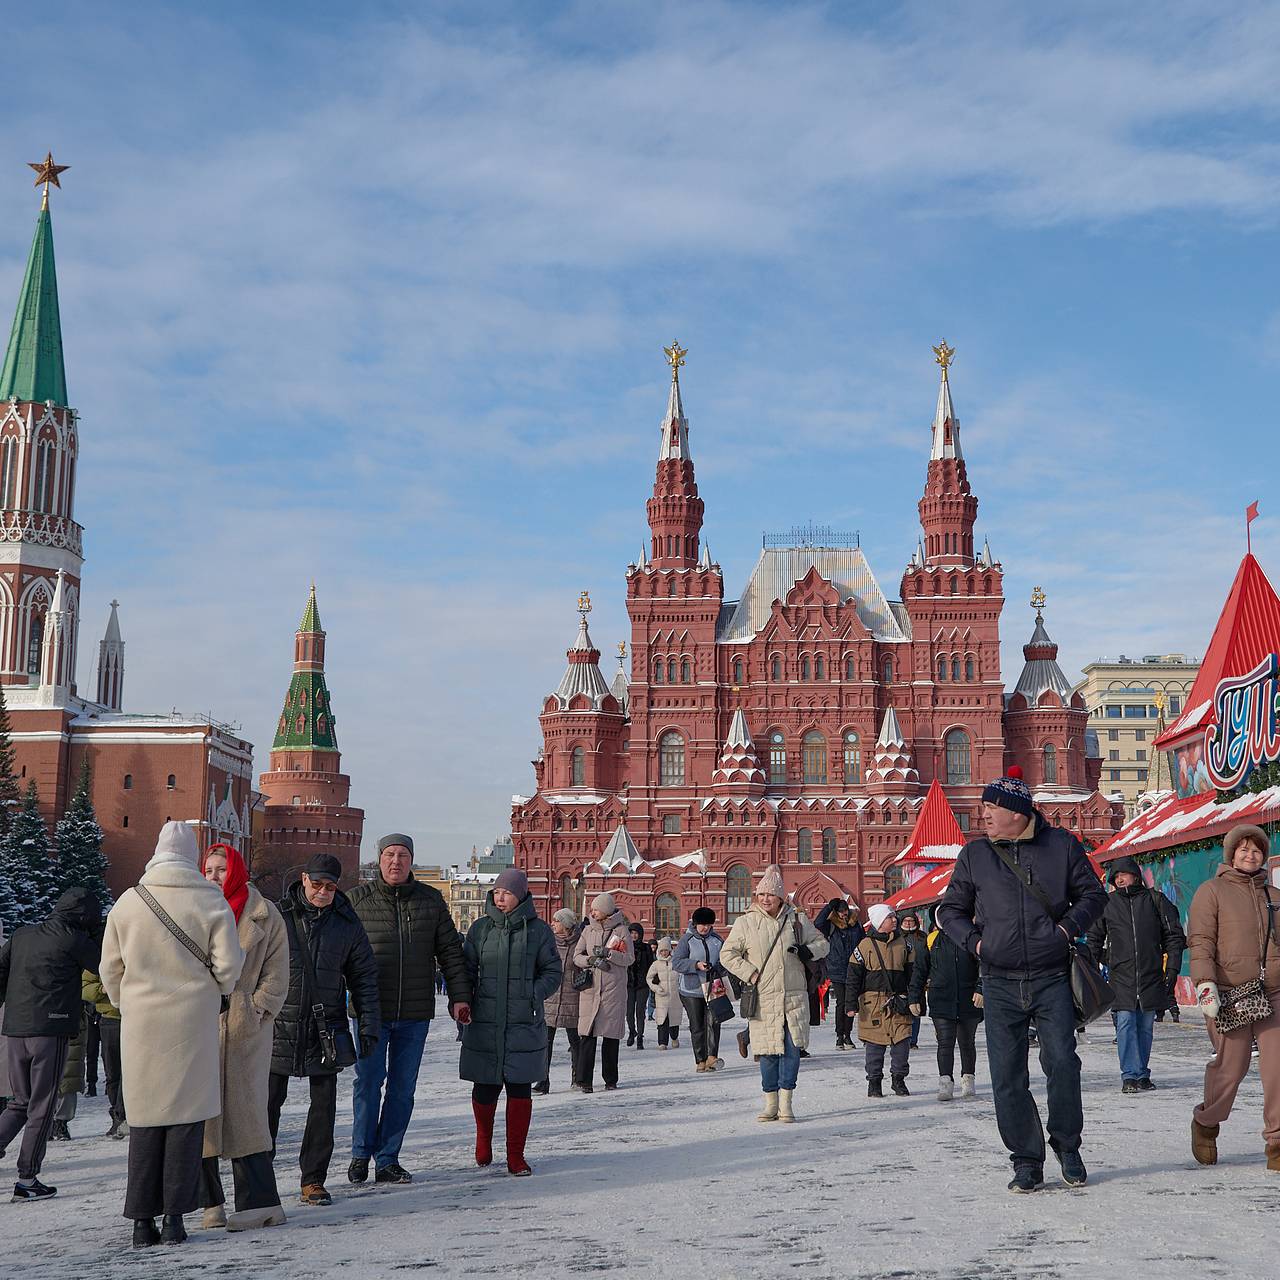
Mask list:
[{"label": "person in black hooded jacket walking at the far left edge", "polygon": [[49,1199],[40,1180],[54,1128],[58,1085],[81,1030],[81,978],[97,973],[102,905],[87,888],[69,888],[49,919],[18,929],[0,948],[0,1005],[13,1097],[0,1114],[0,1153],[22,1133],[15,1201]]}]

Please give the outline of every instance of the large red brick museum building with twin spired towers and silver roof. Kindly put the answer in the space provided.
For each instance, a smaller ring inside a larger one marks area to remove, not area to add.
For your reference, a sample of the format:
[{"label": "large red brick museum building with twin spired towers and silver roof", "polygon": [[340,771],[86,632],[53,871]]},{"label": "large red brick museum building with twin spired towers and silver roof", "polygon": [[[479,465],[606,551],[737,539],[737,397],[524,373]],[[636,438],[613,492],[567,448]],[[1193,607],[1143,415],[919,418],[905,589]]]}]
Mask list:
[{"label": "large red brick museum building with twin spired towers and silver roof", "polygon": [[856,538],[809,530],[764,539],[735,600],[701,540],[684,353],[668,351],[650,538],[626,570],[630,672],[605,681],[584,595],[539,717],[536,791],[513,797],[516,860],[543,915],[608,890],[663,933],[703,904],[732,920],[774,861],[803,906],[847,893],[865,909],[902,887],[891,864],[934,778],[961,829],[977,829],[982,785],[1012,764],[1052,822],[1094,842],[1119,828],[1039,594],[1025,664],[1005,689],[1002,568],[989,545],[977,549],[954,353],[934,349],[920,535],[897,599]]}]

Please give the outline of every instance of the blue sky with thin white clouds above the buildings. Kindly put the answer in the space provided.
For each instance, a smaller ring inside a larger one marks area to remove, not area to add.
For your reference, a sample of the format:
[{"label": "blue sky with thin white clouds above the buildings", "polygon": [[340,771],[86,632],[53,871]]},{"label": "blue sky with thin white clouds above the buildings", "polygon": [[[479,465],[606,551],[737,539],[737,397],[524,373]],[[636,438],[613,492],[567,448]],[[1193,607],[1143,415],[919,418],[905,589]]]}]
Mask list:
[{"label": "blue sky with thin white clouds above the buildings", "polygon": [[1006,681],[1036,584],[1071,673],[1199,653],[1254,498],[1280,572],[1280,12],[1116,8],[10,15],[49,79],[0,131],[0,306],[26,161],[73,166],[82,684],[118,596],[127,705],[264,768],[315,577],[370,837],[465,858],[579,590],[627,634],[673,337],[728,595],[809,518],[897,594],[946,338]]}]

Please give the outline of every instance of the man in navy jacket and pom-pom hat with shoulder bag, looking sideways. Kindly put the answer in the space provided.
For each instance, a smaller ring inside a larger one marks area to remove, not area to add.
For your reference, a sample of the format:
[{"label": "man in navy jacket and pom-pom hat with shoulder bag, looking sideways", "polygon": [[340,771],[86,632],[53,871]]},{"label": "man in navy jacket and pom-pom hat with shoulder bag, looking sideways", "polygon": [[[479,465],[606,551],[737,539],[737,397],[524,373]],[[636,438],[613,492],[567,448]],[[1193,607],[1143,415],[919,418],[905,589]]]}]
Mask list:
[{"label": "man in navy jacket and pom-pom hat with shoulder bag, looking sideways", "polygon": [[[1084,1111],[1069,948],[1102,914],[1106,892],[1084,846],[1037,813],[1020,774],[989,783],[982,800],[987,835],[960,850],[938,924],[982,968],[996,1123],[1014,1165],[1009,1189],[1032,1192],[1044,1181],[1044,1130],[1027,1070],[1033,1020],[1048,1083],[1050,1147],[1062,1180],[1079,1187],[1088,1174],[1080,1158]],[[1007,863],[1044,893],[1051,910]]]}]

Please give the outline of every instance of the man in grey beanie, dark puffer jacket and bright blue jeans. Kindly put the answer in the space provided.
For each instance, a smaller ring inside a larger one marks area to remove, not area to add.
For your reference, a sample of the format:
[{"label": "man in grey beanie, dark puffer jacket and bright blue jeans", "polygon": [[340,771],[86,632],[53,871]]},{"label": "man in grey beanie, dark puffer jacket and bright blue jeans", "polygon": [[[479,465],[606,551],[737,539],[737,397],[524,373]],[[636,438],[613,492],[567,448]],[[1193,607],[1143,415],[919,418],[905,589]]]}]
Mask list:
[{"label": "man in grey beanie, dark puffer jacket and bright blue jeans", "polygon": [[[471,1018],[471,980],[462,940],[439,890],[413,879],[413,841],[393,832],[378,841],[376,878],[351,891],[351,906],[378,961],[383,1030],[378,1046],[356,1064],[351,1126],[352,1183],[410,1183],[399,1152],[413,1115],[417,1070],[435,1016],[435,966],[444,973],[449,1014]],[[383,1083],[387,1097],[383,1098]]]}]

